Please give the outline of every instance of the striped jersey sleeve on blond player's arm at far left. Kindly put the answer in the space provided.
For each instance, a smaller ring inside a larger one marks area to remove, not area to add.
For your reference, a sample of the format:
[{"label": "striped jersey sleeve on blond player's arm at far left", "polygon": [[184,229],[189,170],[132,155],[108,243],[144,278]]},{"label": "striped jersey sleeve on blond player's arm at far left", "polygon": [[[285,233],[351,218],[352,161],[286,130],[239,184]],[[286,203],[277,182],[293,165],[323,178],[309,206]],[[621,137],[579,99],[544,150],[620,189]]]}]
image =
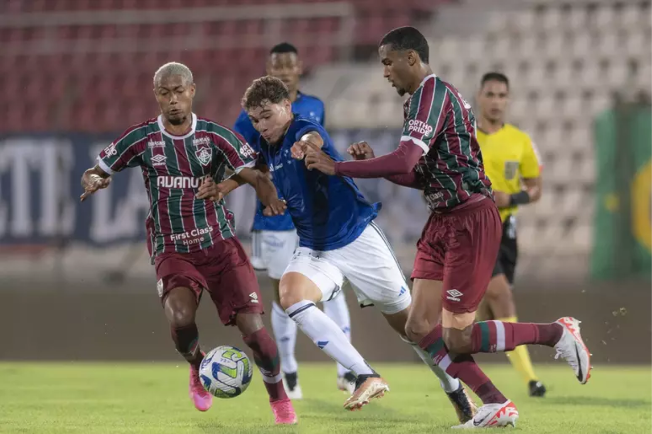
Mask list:
[{"label": "striped jersey sleeve on blond player's arm at far left", "polygon": [[102,149],[97,157],[100,169],[112,175],[125,167],[142,164],[141,155],[147,149],[147,124],[132,126],[122,136]]}]

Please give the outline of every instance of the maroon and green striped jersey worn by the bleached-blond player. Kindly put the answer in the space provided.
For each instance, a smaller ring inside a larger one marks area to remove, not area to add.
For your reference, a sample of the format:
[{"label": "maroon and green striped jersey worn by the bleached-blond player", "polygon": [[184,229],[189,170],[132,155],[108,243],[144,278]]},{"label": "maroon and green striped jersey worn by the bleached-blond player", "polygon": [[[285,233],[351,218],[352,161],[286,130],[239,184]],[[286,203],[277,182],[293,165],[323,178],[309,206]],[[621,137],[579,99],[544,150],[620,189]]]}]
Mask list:
[{"label": "maroon and green striped jersey worn by the bleached-blond player", "polygon": [[226,126],[192,113],[192,128],[184,136],[165,130],[162,117],[134,125],[98,156],[106,173],[140,167],[149,196],[147,248],[160,253],[188,253],[235,235],[233,214],[224,200],[197,199],[204,177],[215,182],[226,169],[237,173],[256,164],[256,152]]}]

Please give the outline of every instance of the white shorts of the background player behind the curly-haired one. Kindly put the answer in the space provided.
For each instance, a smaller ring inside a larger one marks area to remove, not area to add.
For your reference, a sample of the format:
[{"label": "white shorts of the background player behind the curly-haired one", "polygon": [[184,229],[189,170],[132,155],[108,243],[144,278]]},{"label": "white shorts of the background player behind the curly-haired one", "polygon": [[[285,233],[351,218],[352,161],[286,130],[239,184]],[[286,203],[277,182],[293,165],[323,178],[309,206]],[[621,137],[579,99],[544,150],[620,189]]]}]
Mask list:
[{"label": "white shorts of the background player behind the curly-haired one", "polygon": [[279,280],[299,245],[297,231],[254,231],[251,263],[256,270],[267,270],[267,276]]}]

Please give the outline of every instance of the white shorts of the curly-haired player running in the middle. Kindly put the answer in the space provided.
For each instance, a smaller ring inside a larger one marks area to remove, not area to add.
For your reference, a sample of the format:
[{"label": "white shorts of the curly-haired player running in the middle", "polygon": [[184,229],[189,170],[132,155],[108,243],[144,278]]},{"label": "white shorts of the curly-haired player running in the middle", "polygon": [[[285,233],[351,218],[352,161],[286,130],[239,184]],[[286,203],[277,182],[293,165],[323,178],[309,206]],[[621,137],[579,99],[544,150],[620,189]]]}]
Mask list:
[{"label": "white shorts of the curly-haired player running in the middle", "polygon": [[298,247],[287,272],[297,272],[321,289],[321,301],[333,300],[345,280],[353,287],[361,307],[375,305],[383,313],[398,313],[412,301],[408,283],[385,239],[374,222],[351,244],[318,252]]}]

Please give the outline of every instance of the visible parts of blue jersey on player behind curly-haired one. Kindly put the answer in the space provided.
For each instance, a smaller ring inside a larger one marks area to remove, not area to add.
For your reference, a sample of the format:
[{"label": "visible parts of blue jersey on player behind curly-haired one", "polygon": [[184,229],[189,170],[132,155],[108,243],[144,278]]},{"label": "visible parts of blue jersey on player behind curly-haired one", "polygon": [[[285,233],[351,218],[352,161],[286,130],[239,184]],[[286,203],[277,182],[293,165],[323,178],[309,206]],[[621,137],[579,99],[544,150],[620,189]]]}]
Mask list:
[{"label": "visible parts of blue jersey on player behind curly-haired one", "polygon": [[[301,117],[310,119],[321,126],[324,125],[324,103],[321,102],[319,98],[312,95],[306,95],[301,92],[297,93],[297,100],[292,103],[292,111],[298,113]],[[239,132],[244,139],[254,147],[257,152],[260,152],[260,149],[256,143],[260,134],[254,128],[249,117],[246,114],[246,111],[242,111],[238,116],[238,119],[235,121],[233,130]],[[254,224],[252,225],[252,231],[291,231],[294,229],[292,224],[292,219],[289,214],[286,212],[282,216],[273,216],[267,217],[263,215],[263,204],[260,201],[256,201],[256,216],[254,216]]]}]

